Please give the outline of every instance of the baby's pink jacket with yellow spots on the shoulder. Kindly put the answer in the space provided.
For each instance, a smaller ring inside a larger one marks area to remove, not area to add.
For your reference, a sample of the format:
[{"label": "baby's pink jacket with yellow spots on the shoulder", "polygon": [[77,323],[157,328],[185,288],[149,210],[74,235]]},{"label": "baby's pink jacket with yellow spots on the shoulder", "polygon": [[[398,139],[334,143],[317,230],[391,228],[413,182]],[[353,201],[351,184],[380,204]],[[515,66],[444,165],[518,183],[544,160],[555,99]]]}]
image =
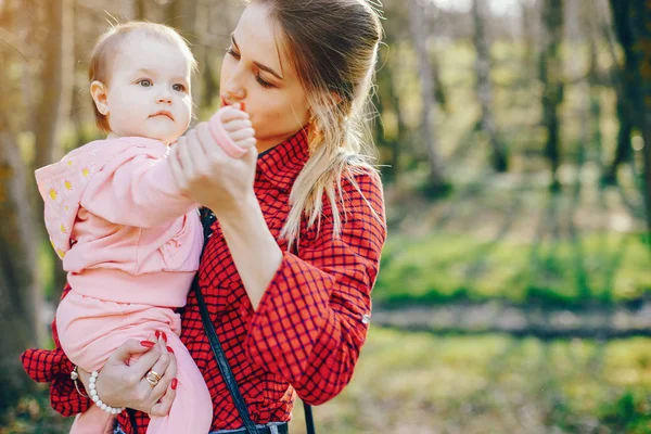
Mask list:
[{"label": "baby's pink jacket with yellow spots on the shoulder", "polygon": [[153,139],[97,140],[36,170],[52,246],[80,294],[180,307],[199,268],[197,204]]}]

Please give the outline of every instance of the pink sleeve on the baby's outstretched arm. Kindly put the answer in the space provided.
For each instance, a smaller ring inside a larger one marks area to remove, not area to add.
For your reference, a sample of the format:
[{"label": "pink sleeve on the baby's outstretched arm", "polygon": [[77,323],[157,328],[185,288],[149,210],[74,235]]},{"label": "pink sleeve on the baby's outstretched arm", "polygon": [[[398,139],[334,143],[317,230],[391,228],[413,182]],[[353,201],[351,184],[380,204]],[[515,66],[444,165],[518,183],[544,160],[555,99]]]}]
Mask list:
[{"label": "pink sleeve on the baby's outstretched arm", "polygon": [[183,216],[197,204],[176,186],[166,156],[132,146],[92,176],[79,204],[115,225],[151,228]]}]

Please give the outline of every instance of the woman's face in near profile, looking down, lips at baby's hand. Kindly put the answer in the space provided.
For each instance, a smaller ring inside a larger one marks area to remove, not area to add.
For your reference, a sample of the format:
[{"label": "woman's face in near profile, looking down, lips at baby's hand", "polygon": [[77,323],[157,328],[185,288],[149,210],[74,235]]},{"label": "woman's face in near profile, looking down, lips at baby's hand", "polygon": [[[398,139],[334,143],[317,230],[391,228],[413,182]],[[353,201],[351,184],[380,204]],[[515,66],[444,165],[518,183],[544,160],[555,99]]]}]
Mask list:
[{"label": "woman's face in near profile, looking down, lips at baby's hand", "polygon": [[305,91],[267,8],[251,3],[231,35],[221,66],[222,104],[245,103],[258,152],[293,136],[309,120]]}]

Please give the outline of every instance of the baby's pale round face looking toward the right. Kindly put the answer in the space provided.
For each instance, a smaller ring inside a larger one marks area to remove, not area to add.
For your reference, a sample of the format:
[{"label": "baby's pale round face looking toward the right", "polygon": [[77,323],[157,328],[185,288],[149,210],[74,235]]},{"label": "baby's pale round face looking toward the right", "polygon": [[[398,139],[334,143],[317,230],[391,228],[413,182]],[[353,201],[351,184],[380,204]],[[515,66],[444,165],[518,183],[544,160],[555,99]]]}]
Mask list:
[{"label": "baby's pale round face looking toward the right", "polygon": [[190,125],[190,61],[180,48],[135,34],[115,55],[106,91],[108,125],[120,137],[169,144]]}]

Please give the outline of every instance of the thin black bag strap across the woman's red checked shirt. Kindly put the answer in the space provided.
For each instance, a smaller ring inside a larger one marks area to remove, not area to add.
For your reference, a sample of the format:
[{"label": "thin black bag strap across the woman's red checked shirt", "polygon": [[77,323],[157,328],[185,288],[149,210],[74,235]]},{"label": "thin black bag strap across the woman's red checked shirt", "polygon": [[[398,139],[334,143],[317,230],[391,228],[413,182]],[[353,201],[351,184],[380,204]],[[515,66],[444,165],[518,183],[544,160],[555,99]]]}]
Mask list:
[{"label": "thin black bag strap across the woman's red checked shirt", "polygon": [[[203,225],[205,240],[204,250],[208,242],[208,239],[213,234],[212,226],[215,222],[215,220],[216,218],[213,212],[210,212],[208,208],[201,209],[201,222]],[[233,372],[230,369],[230,365],[228,365],[226,355],[224,354],[224,348],[221,347],[219,336],[217,336],[217,332],[215,331],[215,326],[213,324],[213,321],[210,321],[210,315],[208,314],[206,302],[201,291],[201,286],[199,285],[199,272],[196,273],[196,276],[194,276],[194,280],[192,281],[192,289],[194,290],[194,293],[196,295],[196,302],[199,304],[199,310],[201,312],[201,320],[203,321],[206,335],[208,336],[208,342],[210,343],[210,348],[213,349],[213,354],[215,355],[215,359],[217,360],[219,372],[221,373],[221,376],[226,382],[226,386],[228,387],[233,398],[233,403],[235,404],[235,408],[240,413],[240,418],[242,419],[242,422],[244,422],[244,429],[246,430],[247,434],[257,434],[257,429],[253,420],[251,420],[251,414],[248,413],[248,408],[246,407],[244,397],[240,393],[240,388],[238,387],[235,376],[233,375]],[[305,424],[307,427],[307,434],[316,434],[311,406],[309,404],[303,403],[303,409],[305,410]]]}]

